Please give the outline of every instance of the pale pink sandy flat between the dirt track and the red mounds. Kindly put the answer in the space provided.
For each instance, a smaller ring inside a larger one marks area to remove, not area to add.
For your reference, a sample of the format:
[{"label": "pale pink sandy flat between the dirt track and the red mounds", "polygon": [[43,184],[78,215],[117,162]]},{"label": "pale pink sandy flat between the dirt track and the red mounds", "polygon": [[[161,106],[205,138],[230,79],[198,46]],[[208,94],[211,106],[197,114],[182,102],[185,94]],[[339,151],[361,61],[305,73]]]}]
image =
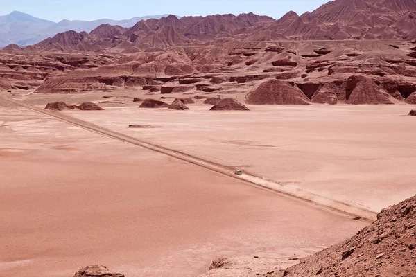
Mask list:
[{"label": "pale pink sandy flat between the dirt track and the red mounds", "polygon": [[[42,107],[50,97],[26,102]],[[126,98],[123,107],[67,113],[377,212],[416,194],[415,118],[406,116],[415,106],[249,106],[251,111],[213,112],[198,101],[189,105],[190,111],[170,111],[138,109],[139,104]],[[127,129],[130,124],[157,128]]]}]

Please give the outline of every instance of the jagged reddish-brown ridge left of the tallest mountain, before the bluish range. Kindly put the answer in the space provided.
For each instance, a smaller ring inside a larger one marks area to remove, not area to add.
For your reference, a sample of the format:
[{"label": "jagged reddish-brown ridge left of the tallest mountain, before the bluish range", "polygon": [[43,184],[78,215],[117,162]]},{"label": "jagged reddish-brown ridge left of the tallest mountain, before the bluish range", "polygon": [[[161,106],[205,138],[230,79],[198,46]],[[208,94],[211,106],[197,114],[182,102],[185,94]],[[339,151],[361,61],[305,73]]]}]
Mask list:
[{"label": "jagged reddish-brown ridge left of the tallest mountain, before the bluish range", "polygon": [[164,50],[172,46],[203,45],[229,42],[247,37],[256,28],[274,19],[253,13],[182,17],[168,15],[160,19],[137,22],[131,28],[103,24],[90,33],[67,31],[45,39],[34,47],[55,51],[103,51],[134,53]]}]

